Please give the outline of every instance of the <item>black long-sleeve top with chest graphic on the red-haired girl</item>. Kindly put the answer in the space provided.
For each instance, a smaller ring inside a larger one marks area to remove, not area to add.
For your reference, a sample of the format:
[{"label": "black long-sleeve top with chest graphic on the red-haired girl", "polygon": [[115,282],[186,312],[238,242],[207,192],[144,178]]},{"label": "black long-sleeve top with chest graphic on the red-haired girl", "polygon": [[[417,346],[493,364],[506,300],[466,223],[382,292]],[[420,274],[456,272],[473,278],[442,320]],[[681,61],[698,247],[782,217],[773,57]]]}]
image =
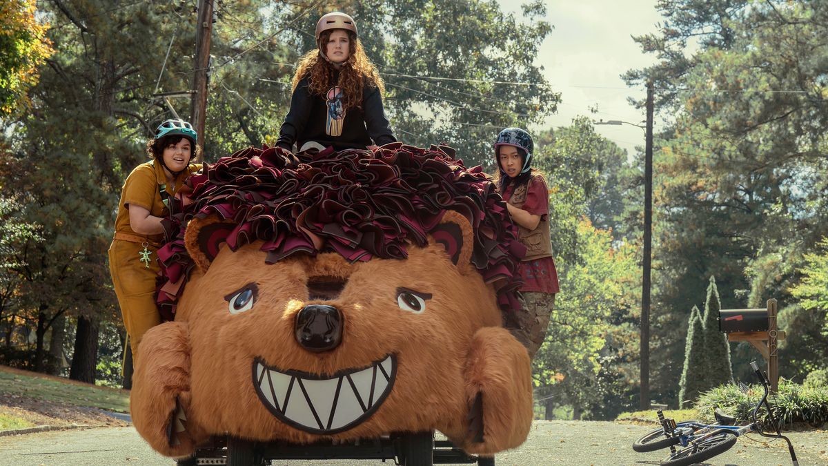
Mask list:
[{"label": "black long-sleeve top with chest graphic on the red-haired girl", "polygon": [[325,96],[311,95],[305,76],[293,91],[291,109],[279,129],[276,145],[291,150],[293,143],[301,148],[302,144],[315,141],[343,150],[366,148],[372,139],[379,146],[397,141],[377,87],[363,86],[362,109],[344,109],[344,100],[341,95],[337,98],[333,89]]}]

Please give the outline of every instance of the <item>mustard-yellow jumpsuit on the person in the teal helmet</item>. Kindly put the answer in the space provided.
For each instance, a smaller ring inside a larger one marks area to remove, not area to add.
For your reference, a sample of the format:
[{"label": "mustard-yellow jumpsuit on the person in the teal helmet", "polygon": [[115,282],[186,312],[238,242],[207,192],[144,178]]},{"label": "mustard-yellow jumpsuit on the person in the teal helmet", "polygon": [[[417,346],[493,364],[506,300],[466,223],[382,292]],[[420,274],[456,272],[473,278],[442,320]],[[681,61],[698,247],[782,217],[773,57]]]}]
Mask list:
[{"label": "mustard-yellow jumpsuit on the person in the teal helmet", "polygon": [[[115,238],[109,246],[109,274],[118,305],[121,307],[123,325],[127,328],[132,346],[132,359],[136,359],[141,337],[153,326],[161,323],[155,304],[156,275],[161,270],[156,251],[163,235],[142,235],[129,226],[129,206],[142,206],[150,215],[168,215],[161,191],[172,197],[181,184],[201,166],[191,164],[188,170],[176,178],[175,186],[166,186],[166,176],[161,163],[142,163],[135,167],[123,182],[118,216],[115,218]],[[143,262],[144,245],[149,251],[149,263]],[[147,265],[149,267],[147,267]]]}]

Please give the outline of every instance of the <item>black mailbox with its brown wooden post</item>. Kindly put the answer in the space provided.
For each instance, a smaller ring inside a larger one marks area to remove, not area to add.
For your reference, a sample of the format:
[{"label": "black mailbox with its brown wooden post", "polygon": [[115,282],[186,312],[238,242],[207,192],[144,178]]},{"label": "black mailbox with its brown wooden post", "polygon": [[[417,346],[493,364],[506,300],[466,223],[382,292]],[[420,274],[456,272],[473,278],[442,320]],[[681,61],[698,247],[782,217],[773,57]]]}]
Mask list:
[{"label": "black mailbox with its brown wooden post", "polygon": [[785,333],[777,328],[777,301],[768,299],[768,308],[721,309],[719,330],[727,333],[730,342],[749,342],[768,362],[771,391],[779,388],[778,340]]}]

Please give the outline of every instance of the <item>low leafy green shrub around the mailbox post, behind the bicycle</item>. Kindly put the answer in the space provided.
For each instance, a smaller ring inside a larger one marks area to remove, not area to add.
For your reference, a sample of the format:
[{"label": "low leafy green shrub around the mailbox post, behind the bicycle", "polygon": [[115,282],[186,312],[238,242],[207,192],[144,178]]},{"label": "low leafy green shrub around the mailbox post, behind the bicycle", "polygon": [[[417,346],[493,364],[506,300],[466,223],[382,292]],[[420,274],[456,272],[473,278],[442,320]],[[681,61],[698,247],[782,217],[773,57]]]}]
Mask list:
[{"label": "low leafy green shrub around the mailbox post, behind the bicycle", "polygon": [[[705,392],[696,403],[696,410],[702,420],[713,420],[713,411],[719,407],[725,413],[736,417],[739,423],[751,422],[753,406],[762,398],[760,385],[743,390],[734,384],[718,386]],[[777,422],[790,427],[795,423],[820,426],[828,423],[828,386],[802,386],[784,379],[779,381],[777,396],[769,396],[773,415]],[[768,410],[762,407],[757,420],[769,426]]]}]

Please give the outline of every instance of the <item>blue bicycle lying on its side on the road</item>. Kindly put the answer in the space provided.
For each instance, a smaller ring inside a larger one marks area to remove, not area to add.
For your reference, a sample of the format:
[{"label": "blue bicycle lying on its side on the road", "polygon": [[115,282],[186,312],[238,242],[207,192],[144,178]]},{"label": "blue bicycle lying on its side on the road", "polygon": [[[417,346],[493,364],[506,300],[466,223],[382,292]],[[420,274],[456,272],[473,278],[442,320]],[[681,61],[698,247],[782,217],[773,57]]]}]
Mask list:
[{"label": "blue bicycle lying on its side on the road", "polygon": [[[665,418],[662,410],[658,410],[658,420],[661,422],[661,429],[652,430],[633,443],[633,449],[638,452],[655,451],[657,449],[670,448],[670,456],[662,459],[662,466],[686,466],[689,464],[702,463],[722,454],[736,443],[736,439],[744,434],[756,432],[763,437],[773,439],[785,439],[787,449],[791,454],[794,466],[797,466],[797,454],[793,451],[791,440],[782,435],[773,410],[768,405],[769,382],[763,371],[759,370],[756,362],[750,366],[762,381],[764,395],[762,400],[753,408],[753,422],[749,425],[733,425],[736,420],[724,414],[719,409],[715,410],[716,424],[709,425],[698,420],[688,420],[676,423],[675,420]],[[776,434],[763,432],[762,426],[756,420],[756,413],[762,405],[768,410],[768,418],[773,424]]]}]

